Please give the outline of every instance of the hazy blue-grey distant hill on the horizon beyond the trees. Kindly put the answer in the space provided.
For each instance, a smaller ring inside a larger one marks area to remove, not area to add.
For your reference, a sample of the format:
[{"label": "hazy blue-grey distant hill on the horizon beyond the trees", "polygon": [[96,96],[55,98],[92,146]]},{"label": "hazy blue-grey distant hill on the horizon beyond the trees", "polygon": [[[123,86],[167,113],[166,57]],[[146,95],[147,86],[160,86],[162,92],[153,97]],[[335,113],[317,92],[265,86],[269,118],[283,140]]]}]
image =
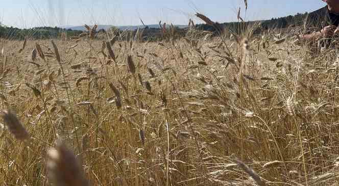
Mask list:
[{"label": "hazy blue-grey distant hill on the horizon beyond the trees", "polygon": [[[104,30],[108,30],[109,28],[111,28],[112,25],[103,25],[103,24],[100,24],[98,25],[98,29],[96,30],[101,30],[101,29],[104,29]],[[159,29],[159,25],[158,24],[149,24],[147,25],[150,29]],[[175,25],[177,26],[178,28],[180,29],[184,29],[184,28],[187,28],[187,25]],[[129,26],[116,26],[117,28],[119,28],[120,30],[130,30],[130,31],[134,31],[138,28],[140,29],[143,29],[145,26],[144,25],[129,25]],[[63,29],[71,29],[71,30],[74,30],[74,31],[85,31],[86,28],[84,26],[70,26],[70,25],[67,25],[67,26],[62,26],[61,28]]]}]

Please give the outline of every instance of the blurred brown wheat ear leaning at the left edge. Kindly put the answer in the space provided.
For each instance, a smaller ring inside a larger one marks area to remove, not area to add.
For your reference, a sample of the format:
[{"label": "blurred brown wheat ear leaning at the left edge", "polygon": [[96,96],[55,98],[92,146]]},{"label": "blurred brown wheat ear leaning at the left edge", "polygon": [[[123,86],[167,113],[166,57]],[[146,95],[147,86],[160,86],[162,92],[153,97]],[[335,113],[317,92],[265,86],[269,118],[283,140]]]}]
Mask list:
[{"label": "blurred brown wheat ear leaning at the left edge", "polygon": [[29,134],[25,127],[21,124],[20,120],[17,118],[16,114],[11,110],[2,111],[3,119],[5,125],[18,140],[26,140],[29,138]]}]

